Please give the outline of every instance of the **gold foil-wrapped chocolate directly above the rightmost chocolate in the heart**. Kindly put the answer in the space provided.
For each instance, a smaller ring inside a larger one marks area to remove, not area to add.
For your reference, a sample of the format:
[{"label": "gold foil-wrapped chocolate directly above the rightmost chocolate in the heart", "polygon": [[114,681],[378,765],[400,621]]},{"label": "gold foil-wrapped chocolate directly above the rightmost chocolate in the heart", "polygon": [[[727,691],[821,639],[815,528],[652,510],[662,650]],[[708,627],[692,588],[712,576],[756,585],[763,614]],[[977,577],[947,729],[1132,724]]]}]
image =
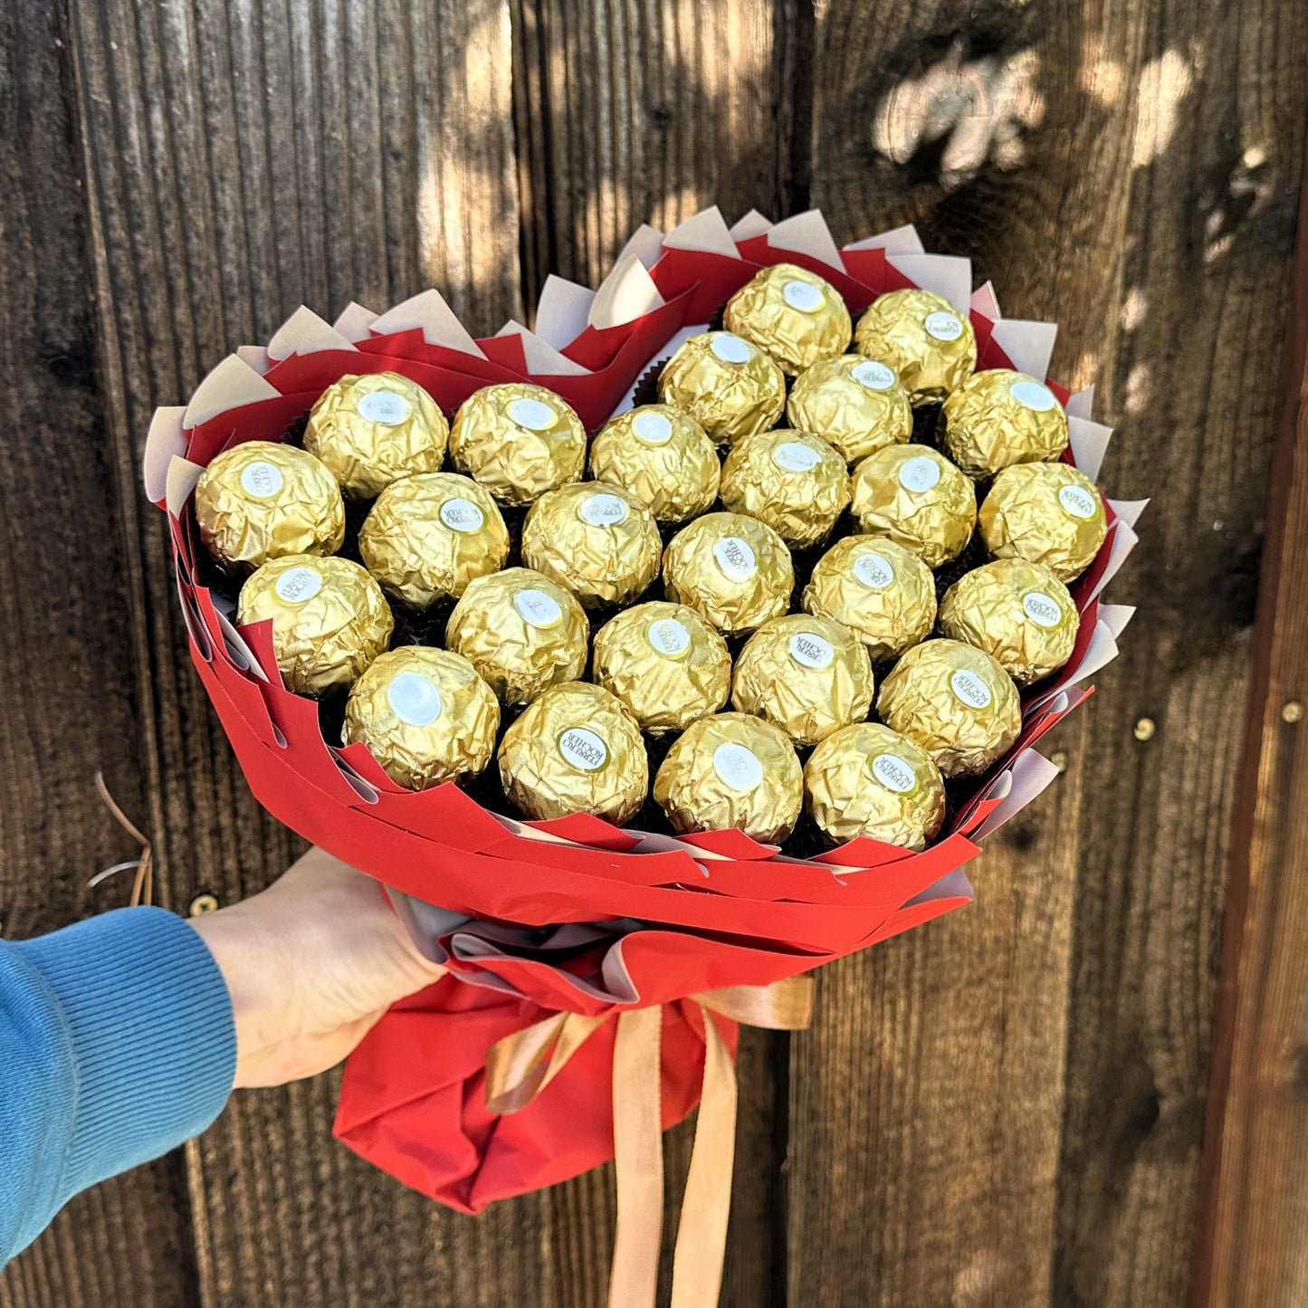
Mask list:
[{"label": "gold foil-wrapped chocolate directly above the rightmost chocolate in the heart", "polygon": [[1007,368],[973,373],[940,409],[940,447],[969,477],[1057,459],[1067,415],[1044,382]]}]

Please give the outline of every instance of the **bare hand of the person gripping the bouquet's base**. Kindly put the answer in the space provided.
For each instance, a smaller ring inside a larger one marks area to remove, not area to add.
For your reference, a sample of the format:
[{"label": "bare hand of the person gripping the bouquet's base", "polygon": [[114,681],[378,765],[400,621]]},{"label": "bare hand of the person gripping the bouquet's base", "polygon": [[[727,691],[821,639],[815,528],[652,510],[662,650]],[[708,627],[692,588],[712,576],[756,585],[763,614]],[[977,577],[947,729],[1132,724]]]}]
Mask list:
[{"label": "bare hand of the person gripping the bouquet's base", "polygon": [[392,1003],[445,974],[419,954],[381,886],[320,849],[191,925],[232,993],[237,1087],[335,1066]]}]

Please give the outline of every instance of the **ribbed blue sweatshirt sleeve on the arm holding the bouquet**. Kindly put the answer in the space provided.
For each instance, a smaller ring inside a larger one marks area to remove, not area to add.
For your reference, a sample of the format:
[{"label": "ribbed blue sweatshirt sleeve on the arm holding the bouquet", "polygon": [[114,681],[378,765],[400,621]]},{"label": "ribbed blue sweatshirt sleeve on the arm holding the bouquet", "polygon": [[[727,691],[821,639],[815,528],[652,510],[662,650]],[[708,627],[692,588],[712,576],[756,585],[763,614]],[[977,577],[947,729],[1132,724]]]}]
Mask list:
[{"label": "ribbed blue sweatshirt sleeve on the arm holding the bouquet", "polygon": [[0,1266],[78,1190],[203,1131],[235,1056],[222,973],[164,909],[0,940]]}]

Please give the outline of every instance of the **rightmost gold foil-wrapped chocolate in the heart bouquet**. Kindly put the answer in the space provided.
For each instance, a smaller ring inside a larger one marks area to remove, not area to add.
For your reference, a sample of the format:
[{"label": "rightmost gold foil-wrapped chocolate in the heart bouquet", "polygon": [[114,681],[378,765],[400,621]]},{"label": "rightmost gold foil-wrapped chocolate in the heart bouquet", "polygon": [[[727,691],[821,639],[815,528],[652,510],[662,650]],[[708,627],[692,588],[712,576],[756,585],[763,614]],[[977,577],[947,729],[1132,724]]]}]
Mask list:
[{"label": "rightmost gold foil-wrapped chocolate in the heart bouquet", "polygon": [[1005,468],[981,502],[977,522],[991,555],[1044,564],[1063,582],[1093,562],[1108,535],[1099,489],[1070,463]]}]

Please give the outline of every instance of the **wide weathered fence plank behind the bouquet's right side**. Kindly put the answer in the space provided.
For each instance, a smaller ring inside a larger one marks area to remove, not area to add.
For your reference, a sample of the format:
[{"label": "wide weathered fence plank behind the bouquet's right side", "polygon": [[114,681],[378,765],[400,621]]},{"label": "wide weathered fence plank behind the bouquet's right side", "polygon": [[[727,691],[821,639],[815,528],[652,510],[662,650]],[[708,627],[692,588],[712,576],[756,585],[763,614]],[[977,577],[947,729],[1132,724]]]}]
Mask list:
[{"label": "wide weathered fence plank behind the bouquet's right side", "polygon": [[1054,374],[1118,426],[1105,485],[1159,500],[1057,793],[972,909],[823,977],[791,1056],[795,1304],[1184,1294],[1305,42],[1277,0],[820,13],[837,237],[917,221],[1059,319]]}]

